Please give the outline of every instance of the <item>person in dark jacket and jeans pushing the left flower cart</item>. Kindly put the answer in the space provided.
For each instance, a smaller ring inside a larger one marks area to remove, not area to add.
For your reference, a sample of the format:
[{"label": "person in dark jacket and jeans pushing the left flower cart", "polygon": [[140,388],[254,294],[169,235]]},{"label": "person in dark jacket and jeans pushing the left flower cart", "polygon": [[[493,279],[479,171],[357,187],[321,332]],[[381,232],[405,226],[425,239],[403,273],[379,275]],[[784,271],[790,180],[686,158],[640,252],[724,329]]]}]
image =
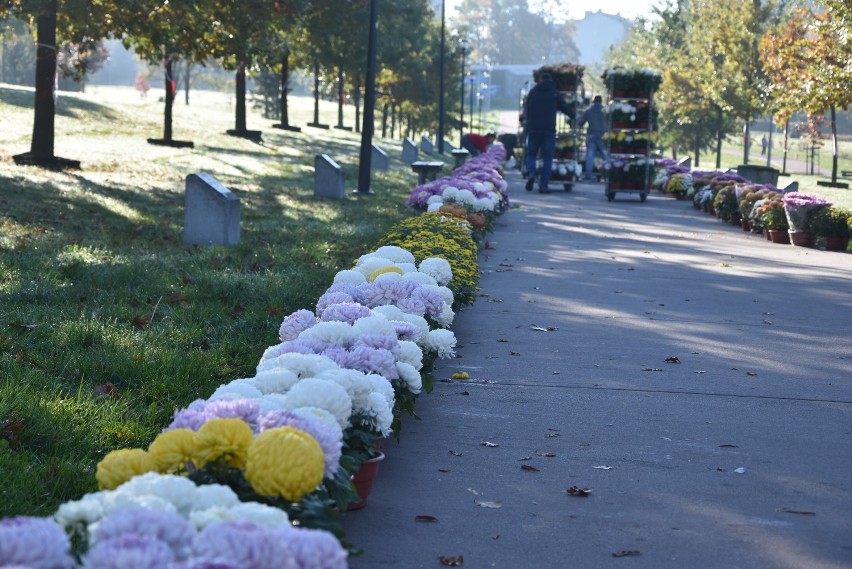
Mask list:
[{"label": "person in dark jacket and jeans pushing the left flower cart", "polygon": [[527,191],[532,191],[535,184],[535,164],[541,151],[541,178],[539,192],[549,192],[550,170],[553,167],[553,150],[556,147],[556,111],[562,111],[568,116],[574,114],[574,109],[562,98],[550,73],[542,73],[538,83],[527,93],[524,104],[523,120],[527,145],[524,151],[526,163]]}]

